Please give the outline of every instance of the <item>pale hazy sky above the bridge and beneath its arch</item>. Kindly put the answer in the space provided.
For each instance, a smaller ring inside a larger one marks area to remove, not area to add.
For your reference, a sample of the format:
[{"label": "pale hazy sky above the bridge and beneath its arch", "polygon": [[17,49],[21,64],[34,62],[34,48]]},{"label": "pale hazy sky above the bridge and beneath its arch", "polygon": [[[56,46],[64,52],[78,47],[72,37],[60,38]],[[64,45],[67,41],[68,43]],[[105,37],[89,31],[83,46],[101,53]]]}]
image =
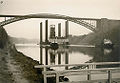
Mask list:
[{"label": "pale hazy sky above the bridge and beneath its arch", "polygon": [[[120,0],[0,0],[0,14],[53,13],[79,18],[108,18],[120,20]],[[2,21],[3,18],[0,18]],[[4,26],[13,37],[39,38],[39,24],[46,19],[27,19]],[[62,23],[64,36],[65,20],[49,19],[49,25]],[[44,27],[44,26],[43,26]],[[72,35],[88,34],[91,31],[69,22]],[[57,29],[56,29],[57,31]]]}]

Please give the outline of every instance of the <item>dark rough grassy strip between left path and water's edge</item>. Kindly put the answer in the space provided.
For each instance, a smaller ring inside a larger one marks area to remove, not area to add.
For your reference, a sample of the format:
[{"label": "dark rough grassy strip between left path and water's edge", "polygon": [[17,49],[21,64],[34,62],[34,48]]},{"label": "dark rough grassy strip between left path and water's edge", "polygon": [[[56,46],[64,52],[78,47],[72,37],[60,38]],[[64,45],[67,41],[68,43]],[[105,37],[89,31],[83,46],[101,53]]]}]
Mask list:
[{"label": "dark rough grassy strip between left path and water's edge", "polygon": [[8,54],[14,60],[15,65],[18,65],[19,72],[16,73],[20,73],[23,78],[28,80],[28,83],[43,83],[41,74],[42,70],[34,68],[35,65],[39,64],[38,61],[18,52],[15,46],[11,46]]}]

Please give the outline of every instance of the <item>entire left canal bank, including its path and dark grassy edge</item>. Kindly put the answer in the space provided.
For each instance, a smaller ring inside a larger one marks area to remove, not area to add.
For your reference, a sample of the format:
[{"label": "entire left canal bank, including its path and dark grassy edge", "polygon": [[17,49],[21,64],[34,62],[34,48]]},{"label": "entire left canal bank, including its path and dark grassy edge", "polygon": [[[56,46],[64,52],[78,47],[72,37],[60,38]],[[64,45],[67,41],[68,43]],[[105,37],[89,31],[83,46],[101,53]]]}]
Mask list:
[{"label": "entire left canal bank, including its path and dark grassy edge", "polygon": [[0,49],[0,83],[44,83],[42,70],[34,68],[38,64],[14,46]]}]

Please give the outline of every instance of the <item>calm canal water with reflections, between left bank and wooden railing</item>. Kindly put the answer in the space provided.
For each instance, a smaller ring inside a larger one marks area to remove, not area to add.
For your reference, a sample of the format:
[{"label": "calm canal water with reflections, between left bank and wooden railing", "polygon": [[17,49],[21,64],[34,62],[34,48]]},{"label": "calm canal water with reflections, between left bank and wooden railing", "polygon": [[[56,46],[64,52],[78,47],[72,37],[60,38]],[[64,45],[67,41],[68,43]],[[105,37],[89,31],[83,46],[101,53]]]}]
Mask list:
[{"label": "calm canal water with reflections, between left bank and wooden railing", "polygon": [[[26,56],[29,56],[44,65],[120,61],[120,47],[105,49],[100,47],[96,48],[94,46],[71,45],[67,47],[60,46],[59,49],[52,50],[50,48],[40,47],[36,44],[17,44],[16,48]],[[68,70],[80,69],[80,67],[53,67],[52,69]],[[69,77],[69,79],[73,81],[76,80],[77,77]]]}]

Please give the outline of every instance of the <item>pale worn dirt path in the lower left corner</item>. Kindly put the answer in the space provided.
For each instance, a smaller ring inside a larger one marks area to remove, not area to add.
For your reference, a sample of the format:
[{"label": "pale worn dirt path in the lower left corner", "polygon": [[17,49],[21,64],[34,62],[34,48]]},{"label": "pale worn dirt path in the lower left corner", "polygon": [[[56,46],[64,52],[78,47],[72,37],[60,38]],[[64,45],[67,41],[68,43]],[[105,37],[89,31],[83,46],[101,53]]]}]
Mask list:
[{"label": "pale worn dirt path in the lower left corner", "polygon": [[0,83],[29,83],[20,66],[8,52],[0,50]]}]

